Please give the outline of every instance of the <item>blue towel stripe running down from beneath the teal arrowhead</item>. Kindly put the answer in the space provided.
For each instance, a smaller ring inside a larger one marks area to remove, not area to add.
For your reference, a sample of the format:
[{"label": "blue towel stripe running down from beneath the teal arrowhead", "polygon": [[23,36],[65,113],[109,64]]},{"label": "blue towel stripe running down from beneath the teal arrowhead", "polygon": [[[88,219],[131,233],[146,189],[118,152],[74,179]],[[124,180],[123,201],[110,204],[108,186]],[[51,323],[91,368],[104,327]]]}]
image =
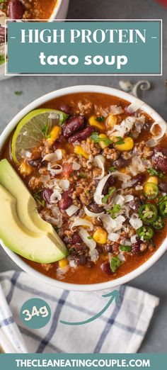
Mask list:
[{"label": "blue towel stripe running down from beneath the teal arrowhead", "polygon": [[[96,344],[96,347],[94,349],[94,353],[99,353],[101,348],[103,347],[103,343],[105,342],[105,338],[108,335],[108,332],[110,331],[110,326],[115,324],[115,319],[117,318],[117,314],[120,312],[120,308],[122,306],[122,302],[124,300],[125,295],[125,286],[120,287],[120,300],[118,305],[115,306],[115,309],[113,310],[113,313],[110,316],[110,319],[108,319],[108,322],[106,323],[103,332],[100,335],[100,338],[98,340],[98,343]],[[111,320],[111,323],[110,323]]]}]

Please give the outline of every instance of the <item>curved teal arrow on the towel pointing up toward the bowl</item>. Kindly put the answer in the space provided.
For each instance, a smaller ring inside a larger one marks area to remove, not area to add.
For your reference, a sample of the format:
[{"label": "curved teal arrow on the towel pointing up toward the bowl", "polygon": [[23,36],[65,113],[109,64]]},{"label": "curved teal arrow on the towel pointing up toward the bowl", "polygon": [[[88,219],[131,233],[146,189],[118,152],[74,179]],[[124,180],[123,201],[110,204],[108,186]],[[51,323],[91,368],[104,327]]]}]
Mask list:
[{"label": "curved teal arrow on the towel pointing up toward the bowl", "polygon": [[103,313],[108,309],[108,307],[110,307],[110,304],[113,303],[113,301],[115,301],[117,305],[119,301],[119,295],[120,295],[119,291],[111,291],[108,294],[104,294],[102,297],[110,297],[110,299],[108,303],[105,305],[105,307],[103,308],[103,310],[101,310],[99,313],[94,315],[93,318],[89,318],[88,320],[85,320],[85,321],[80,321],[79,323],[69,323],[69,321],[60,320],[60,323],[64,325],[85,325],[85,324],[91,323],[91,321],[94,321],[97,318],[99,318],[101,315],[103,315]]}]

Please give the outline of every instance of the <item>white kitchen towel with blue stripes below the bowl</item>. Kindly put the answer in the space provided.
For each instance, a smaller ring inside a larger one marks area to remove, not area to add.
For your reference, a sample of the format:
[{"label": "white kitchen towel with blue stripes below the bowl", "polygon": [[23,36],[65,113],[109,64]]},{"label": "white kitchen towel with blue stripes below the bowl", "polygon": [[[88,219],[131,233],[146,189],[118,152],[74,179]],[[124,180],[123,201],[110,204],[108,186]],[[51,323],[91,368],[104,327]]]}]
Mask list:
[{"label": "white kitchen towel with blue stripes below the bowl", "polygon": [[[119,304],[112,303],[97,320],[69,326],[60,320],[81,322],[108,303],[104,292],[80,293],[47,286],[20,271],[0,274],[0,337],[11,341],[11,351],[30,353],[134,353],[149,327],[159,298],[129,286],[120,286]],[[106,291],[105,291],[106,293]],[[51,308],[50,322],[30,330],[19,315],[30,298],[42,298]],[[8,343],[6,347],[8,348]]]}]

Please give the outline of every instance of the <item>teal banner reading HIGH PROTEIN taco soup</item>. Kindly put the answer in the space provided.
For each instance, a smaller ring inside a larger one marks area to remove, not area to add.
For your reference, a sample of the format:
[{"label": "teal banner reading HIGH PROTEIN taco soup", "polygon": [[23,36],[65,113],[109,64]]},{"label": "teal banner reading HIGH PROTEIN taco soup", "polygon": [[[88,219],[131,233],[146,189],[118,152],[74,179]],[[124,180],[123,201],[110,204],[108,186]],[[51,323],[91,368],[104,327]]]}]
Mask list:
[{"label": "teal banner reading HIGH PROTEIN taco soup", "polygon": [[6,74],[161,74],[161,21],[8,22]]}]

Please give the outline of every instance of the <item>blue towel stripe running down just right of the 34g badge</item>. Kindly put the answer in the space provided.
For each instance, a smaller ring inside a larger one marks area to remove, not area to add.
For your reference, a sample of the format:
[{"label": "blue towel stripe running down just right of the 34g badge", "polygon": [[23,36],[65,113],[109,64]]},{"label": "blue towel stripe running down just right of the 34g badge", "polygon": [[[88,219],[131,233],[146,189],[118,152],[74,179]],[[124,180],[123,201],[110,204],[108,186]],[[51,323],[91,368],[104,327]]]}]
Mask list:
[{"label": "blue towel stripe running down just right of the 34g badge", "polygon": [[54,311],[54,315],[53,315],[53,319],[52,319],[52,325],[50,327],[50,330],[49,330],[49,332],[47,332],[47,335],[42,340],[42,342],[40,342],[40,345],[39,345],[36,353],[42,353],[44,351],[45,347],[47,346],[47,344],[52,339],[53,335],[55,334],[55,332],[57,330],[57,324],[58,324],[58,320],[59,320],[59,315],[60,315],[60,313],[62,311],[62,308],[64,306],[64,303],[65,303],[66,298],[67,298],[68,295],[69,295],[69,292],[68,291],[64,291],[62,293],[62,296],[59,298],[57,307],[56,307],[56,309]]}]

